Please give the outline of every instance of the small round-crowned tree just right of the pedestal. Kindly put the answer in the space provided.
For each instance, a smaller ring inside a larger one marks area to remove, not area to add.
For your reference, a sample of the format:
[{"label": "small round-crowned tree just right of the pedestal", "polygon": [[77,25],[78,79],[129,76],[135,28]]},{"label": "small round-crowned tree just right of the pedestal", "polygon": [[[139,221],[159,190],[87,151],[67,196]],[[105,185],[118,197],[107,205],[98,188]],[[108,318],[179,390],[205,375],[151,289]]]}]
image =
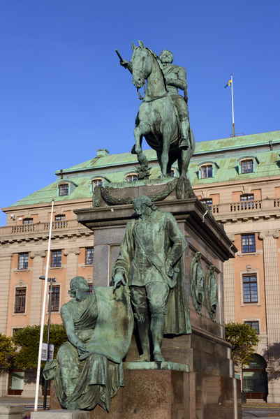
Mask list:
[{"label": "small round-crowned tree just right of the pedestal", "polygon": [[[256,330],[251,328],[248,323],[233,322],[227,323],[225,329],[226,340],[232,346],[233,362],[240,368],[249,365],[251,355],[255,353],[255,346],[260,341]],[[243,389],[242,381],[241,384]]]}]

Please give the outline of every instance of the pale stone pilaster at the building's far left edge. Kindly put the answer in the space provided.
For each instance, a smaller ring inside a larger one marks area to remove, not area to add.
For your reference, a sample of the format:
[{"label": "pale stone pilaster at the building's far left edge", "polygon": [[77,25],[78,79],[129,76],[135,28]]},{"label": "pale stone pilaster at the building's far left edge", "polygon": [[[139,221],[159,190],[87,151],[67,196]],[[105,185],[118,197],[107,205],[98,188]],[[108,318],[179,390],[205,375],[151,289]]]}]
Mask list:
[{"label": "pale stone pilaster at the building's far left edge", "polygon": [[[12,253],[4,253],[0,255],[0,281],[1,281],[1,299],[0,299],[0,333],[7,334],[8,321],[8,303],[10,291],[10,264],[12,261]],[[9,333],[8,333],[9,335]]]}]

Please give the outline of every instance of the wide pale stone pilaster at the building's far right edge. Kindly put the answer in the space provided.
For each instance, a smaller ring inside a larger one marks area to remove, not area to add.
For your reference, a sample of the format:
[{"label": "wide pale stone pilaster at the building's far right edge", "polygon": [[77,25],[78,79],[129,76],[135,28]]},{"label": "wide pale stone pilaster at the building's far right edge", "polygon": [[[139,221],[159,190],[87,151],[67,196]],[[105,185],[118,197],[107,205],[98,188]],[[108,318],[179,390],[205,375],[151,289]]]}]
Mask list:
[{"label": "wide pale stone pilaster at the building's far right edge", "polygon": [[280,281],[278,265],[278,230],[262,231],[263,261],[265,271],[265,309],[267,316],[267,358],[279,359],[280,341]]}]

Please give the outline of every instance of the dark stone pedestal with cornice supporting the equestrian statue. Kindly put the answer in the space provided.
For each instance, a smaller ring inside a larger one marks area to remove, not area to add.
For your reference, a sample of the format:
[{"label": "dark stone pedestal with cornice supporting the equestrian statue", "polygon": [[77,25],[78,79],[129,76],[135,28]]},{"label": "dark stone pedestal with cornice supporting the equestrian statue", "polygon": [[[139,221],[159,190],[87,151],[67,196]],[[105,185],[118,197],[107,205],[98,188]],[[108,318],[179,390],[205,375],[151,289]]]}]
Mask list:
[{"label": "dark stone pedestal with cornice supporting the equestrian statue", "polygon": [[[187,242],[183,260],[192,333],[165,336],[162,353],[168,362],[189,365],[189,372],[126,369],[126,387],[119,390],[112,400],[106,418],[241,418],[240,390],[237,391],[239,384],[234,378],[223,318],[223,262],[233,258],[237,249],[198,199],[184,199],[186,184],[180,184],[179,181],[176,186],[176,182],[176,179],[172,180],[170,186],[163,180],[156,184],[150,181],[146,184],[133,182],[134,185],[129,187],[120,184],[101,193],[99,200],[95,199],[98,207],[75,211],[78,221],[94,231],[94,285],[108,286],[111,283],[111,271],[119,254],[126,223],[135,216],[131,203],[124,203],[129,197],[147,195],[161,199],[154,203],[160,211],[172,212]],[[108,202],[116,203],[118,199],[122,205],[108,205]],[[205,278],[209,267],[214,267],[218,295],[214,318],[207,305],[206,279],[205,299],[200,310],[191,295],[191,265],[197,252],[201,253],[201,270]],[[131,362],[136,358],[137,331],[126,361]],[[95,409],[91,417],[103,418],[105,413],[101,410]],[[124,416],[126,411],[129,411],[128,416]],[[101,416],[96,416],[97,412]]]}]

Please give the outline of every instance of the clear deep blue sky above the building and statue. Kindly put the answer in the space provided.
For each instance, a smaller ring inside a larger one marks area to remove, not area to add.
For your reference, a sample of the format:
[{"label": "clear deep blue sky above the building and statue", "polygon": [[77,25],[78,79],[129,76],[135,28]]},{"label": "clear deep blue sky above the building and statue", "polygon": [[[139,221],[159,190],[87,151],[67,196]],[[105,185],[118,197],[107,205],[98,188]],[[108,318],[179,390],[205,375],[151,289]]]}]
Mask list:
[{"label": "clear deep blue sky above the building and statue", "polygon": [[[115,48],[142,40],[187,71],[196,141],[280,129],[280,1],[2,0],[1,207],[54,182],[54,171],[129,152],[140,101]],[[0,225],[6,216],[0,216]]]}]

